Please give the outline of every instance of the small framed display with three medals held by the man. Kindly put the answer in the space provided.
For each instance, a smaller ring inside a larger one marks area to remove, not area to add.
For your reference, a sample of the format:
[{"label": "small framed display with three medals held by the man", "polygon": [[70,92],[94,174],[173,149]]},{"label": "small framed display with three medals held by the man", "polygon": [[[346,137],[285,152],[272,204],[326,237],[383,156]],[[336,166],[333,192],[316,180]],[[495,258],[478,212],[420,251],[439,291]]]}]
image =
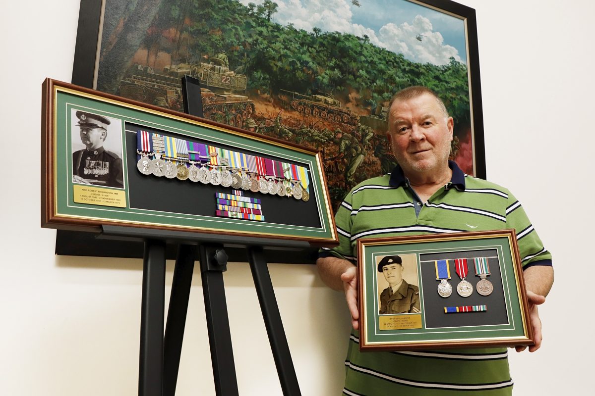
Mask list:
[{"label": "small framed display with three medals held by the man", "polygon": [[533,344],[514,230],[358,239],[359,348]]}]

